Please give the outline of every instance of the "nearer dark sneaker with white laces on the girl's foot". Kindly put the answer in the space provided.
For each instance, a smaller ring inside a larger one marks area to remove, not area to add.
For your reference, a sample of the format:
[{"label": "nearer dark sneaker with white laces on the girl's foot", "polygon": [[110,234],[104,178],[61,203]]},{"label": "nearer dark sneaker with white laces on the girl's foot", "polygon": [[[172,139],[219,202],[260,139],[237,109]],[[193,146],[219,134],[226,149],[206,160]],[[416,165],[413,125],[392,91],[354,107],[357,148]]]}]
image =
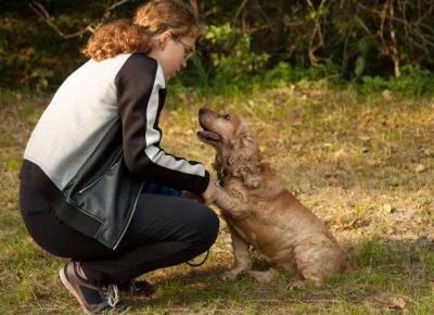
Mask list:
[{"label": "nearer dark sneaker with white laces on the girl's foot", "polygon": [[78,273],[79,262],[69,261],[61,270],[60,277],[66,289],[77,299],[85,313],[99,314],[111,310],[117,313],[129,311],[129,306],[118,302],[115,285],[99,287]]}]

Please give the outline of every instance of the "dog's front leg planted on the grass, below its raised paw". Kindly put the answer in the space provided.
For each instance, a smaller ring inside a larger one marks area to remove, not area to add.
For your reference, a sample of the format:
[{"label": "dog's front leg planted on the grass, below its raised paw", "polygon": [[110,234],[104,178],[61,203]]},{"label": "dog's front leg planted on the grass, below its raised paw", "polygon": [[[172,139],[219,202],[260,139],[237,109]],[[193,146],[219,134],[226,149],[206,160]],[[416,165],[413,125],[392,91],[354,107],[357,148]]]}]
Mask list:
[{"label": "dog's front leg planted on the grass, below its raised paw", "polygon": [[252,267],[252,260],[248,253],[248,244],[242,237],[228,224],[232,237],[233,255],[235,259],[233,268],[221,275],[221,279],[233,280],[237,276]]}]

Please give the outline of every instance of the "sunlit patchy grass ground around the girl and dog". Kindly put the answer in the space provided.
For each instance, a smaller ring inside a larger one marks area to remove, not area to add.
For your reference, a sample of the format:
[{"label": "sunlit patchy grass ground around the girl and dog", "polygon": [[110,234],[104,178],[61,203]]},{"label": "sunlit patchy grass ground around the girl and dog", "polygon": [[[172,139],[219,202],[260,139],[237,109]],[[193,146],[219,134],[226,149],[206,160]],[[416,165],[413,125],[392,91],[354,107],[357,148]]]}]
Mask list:
[{"label": "sunlit patchy grass ground around the girl and dog", "polygon": [[[80,312],[58,278],[64,260],[33,242],[17,206],[23,149],[47,102],[0,92],[0,314]],[[231,97],[169,91],[164,148],[209,166],[213,151],[195,138],[204,105],[250,122],[265,159],[330,226],[354,270],[295,292],[285,290],[291,276],[283,272],[271,284],[247,276],[222,282],[218,276],[232,263],[222,223],[207,263],[145,275],[158,290],[150,299],[126,295],[131,314],[432,314],[433,99],[363,98],[309,85]]]}]

